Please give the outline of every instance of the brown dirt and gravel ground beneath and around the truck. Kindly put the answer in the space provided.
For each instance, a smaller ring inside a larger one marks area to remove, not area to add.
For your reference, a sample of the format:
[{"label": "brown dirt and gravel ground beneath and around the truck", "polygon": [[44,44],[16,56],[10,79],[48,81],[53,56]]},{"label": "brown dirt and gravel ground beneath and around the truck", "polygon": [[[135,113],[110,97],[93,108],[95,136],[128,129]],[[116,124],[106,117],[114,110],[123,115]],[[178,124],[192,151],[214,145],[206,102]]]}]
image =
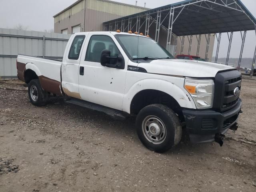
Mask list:
[{"label": "brown dirt and gravel ground beneath and around the truck", "polygon": [[256,80],[242,82],[244,113],[224,146],[182,142],[146,149],[134,119],[30,104],[19,81],[0,81],[1,192],[256,191]]}]

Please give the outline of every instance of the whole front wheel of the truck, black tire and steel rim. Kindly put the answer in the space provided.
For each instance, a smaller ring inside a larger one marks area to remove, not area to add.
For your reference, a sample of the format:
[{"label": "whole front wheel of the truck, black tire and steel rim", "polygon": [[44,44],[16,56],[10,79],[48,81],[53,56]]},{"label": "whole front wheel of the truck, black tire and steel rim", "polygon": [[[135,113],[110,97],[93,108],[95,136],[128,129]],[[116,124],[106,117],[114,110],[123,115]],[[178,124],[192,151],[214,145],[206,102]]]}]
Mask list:
[{"label": "whole front wheel of the truck, black tire and steel rim", "polygon": [[[145,126],[146,124],[149,124],[150,128]],[[166,152],[177,145],[182,136],[182,127],[178,116],[173,110],[162,104],[152,104],[140,110],[136,118],[136,128],[138,137],[144,146],[159,153]],[[159,135],[156,137],[152,135],[158,133]],[[156,141],[157,137],[161,142]]]}]

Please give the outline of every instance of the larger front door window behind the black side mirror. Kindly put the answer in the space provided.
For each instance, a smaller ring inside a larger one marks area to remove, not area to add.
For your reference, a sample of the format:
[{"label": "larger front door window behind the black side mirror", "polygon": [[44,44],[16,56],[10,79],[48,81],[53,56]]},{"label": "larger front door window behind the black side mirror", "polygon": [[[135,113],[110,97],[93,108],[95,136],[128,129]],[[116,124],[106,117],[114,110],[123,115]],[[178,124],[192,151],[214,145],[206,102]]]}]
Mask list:
[{"label": "larger front door window behind the black side mirror", "polygon": [[100,62],[100,56],[103,50],[110,50],[110,56],[118,56],[120,54],[120,51],[116,47],[116,44],[109,36],[92,36],[86,51],[85,60]]}]

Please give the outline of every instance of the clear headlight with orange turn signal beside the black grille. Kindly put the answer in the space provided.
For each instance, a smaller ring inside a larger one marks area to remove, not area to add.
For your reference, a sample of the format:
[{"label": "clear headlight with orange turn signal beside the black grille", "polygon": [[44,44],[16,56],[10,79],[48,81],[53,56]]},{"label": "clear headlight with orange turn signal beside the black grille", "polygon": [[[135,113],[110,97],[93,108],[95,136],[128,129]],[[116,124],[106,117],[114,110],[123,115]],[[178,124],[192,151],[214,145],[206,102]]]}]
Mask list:
[{"label": "clear headlight with orange turn signal beside the black grille", "polygon": [[214,94],[213,80],[198,80],[186,78],[184,88],[192,96],[196,104],[196,108],[212,108]]}]

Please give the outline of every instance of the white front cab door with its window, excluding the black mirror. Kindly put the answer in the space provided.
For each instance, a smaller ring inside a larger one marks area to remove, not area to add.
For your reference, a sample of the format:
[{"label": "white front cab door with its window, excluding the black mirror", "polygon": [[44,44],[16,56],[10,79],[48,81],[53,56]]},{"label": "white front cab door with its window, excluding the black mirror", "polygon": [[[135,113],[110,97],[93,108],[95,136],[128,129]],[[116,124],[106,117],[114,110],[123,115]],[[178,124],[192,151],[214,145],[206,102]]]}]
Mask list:
[{"label": "white front cab door with its window, excluding the black mirror", "polygon": [[[122,110],[128,57],[114,35],[90,33],[79,65],[79,92],[83,100]],[[124,69],[109,68],[100,64],[102,50],[110,50],[110,56],[122,55]]]}]

